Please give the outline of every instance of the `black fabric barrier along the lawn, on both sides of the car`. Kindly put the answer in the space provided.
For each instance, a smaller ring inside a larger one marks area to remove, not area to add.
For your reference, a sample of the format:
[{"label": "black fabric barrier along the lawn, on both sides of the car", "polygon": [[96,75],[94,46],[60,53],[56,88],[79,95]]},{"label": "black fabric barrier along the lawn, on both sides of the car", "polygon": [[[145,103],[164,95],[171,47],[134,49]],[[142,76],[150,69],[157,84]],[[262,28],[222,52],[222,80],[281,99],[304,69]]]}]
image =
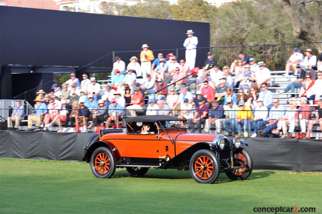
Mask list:
[{"label": "black fabric barrier along the lawn, on both sides of the car", "polygon": [[[0,157],[81,161],[94,133],[0,131]],[[248,138],[243,146],[254,169],[322,172],[322,142],[314,139]]]}]

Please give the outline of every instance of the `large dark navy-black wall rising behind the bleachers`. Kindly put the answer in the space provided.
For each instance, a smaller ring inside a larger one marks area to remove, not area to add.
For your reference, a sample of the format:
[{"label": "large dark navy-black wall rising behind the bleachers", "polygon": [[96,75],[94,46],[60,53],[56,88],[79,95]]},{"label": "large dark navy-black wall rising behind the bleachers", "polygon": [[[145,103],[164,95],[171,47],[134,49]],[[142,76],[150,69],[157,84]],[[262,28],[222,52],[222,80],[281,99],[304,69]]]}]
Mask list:
[{"label": "large dark navy-black wall rising behind the bleachers", "polygon": [[0,6],[0,63],[83,66],[112,51],[141,50],[142,44],[151,50],[183,48],[190,29],[199,39],[198,47],[209,47],[209,27],[209,23]]}]

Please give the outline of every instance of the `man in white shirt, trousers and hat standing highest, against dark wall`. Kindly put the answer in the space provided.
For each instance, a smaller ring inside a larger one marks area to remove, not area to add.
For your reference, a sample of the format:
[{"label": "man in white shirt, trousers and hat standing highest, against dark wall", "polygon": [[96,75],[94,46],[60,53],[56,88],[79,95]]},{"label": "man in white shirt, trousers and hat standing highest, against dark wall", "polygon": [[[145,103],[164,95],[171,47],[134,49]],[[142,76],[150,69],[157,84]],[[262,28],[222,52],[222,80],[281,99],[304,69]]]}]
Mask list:
[{"label": "man in white shirt, trousers and hat standing highest, against dark wall", "polygon": [[185,47],[185,60],[189,65],[190,70],[194,68],[194,64],[196,62],[196,53],[197,53],[197,44],[198,37],[194,36],[194,32],[192,30],[187,31],[188,38],[185,39],[183,46]]}]

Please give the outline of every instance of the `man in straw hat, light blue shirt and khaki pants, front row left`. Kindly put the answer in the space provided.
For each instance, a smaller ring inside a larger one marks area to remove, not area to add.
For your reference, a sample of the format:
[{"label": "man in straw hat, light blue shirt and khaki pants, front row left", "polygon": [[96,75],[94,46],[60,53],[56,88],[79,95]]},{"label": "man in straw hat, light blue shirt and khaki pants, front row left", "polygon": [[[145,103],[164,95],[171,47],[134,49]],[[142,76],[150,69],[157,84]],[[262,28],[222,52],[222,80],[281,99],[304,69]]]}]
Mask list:
[{"label": "man in straw hat, light blue shirt and khaki pants, front row left", "polygon": [[28,115],[28,130],[33,131],[33,121],[36,121],[36,126],[39,127],[43,121],[43,116],[47,113],[47,105],[43,102],[41,96],[36,97],[35,113]]}]

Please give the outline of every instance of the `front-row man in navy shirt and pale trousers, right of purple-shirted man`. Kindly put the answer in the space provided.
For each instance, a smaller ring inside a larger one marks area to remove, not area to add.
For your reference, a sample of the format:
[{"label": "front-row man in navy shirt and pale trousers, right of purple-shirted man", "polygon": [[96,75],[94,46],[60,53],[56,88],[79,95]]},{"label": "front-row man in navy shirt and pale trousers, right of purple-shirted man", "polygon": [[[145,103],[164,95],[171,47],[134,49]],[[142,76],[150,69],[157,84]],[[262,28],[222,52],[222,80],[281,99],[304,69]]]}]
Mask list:
[{"label": "front-row man in navy shirt and pale trousers, right of purple-shirted man", "polygon": [[217,134],[220,133],[220,129],[222,128],[222,122],[224,120],[224,110],[223,106],[219,105],[217,100],[211,102],[210,114],[208,119],[206,119],[206,123],[204,125],[204,132],[209,133],[210,124],[216,124]]}]

